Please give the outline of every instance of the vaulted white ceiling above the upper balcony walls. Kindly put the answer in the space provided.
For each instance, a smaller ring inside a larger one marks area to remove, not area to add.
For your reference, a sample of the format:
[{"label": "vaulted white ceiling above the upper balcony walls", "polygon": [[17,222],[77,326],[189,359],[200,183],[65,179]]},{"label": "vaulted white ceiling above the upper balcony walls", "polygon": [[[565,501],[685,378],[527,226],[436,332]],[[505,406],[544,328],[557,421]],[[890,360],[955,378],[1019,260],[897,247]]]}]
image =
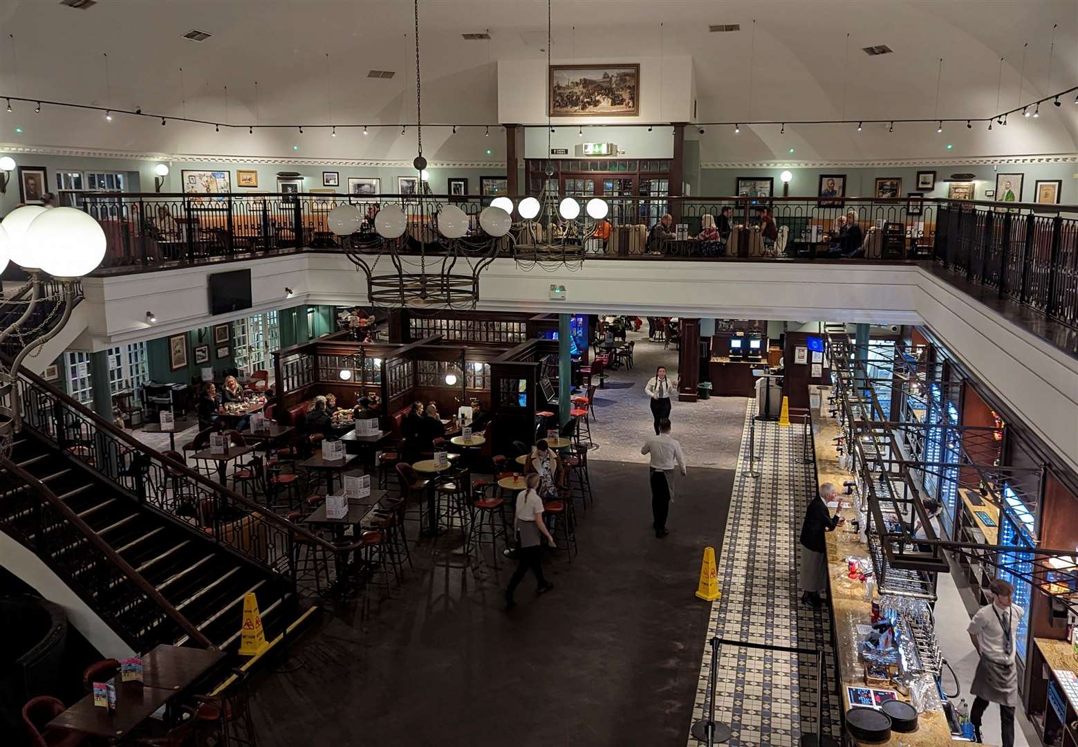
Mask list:
[{"label": "vaulted white ceiling above the upper balcony walls", "polygon": [[[420,0],[419,11],[426,122],[496,121],[495,61],[545,57],[543,0]],[[0,95],[245,124],[411,122],[412,22],[410,0],[99,0],[86,11],[59,0],[0,0]],[[710,24],[741,24],[741,30],[710,33]],[[553,25],[552,54],[562,59],[690,54],[701,121],[977,117],[997,111],[997,91],[998,108],[1009,109],[1020,100],[1020,86],[1024,102],[1078,84],[1078,0],[555,0]],[[213,36],[201,43],[183,39],[191,29]],[[461,38],[485,30],[489,42]],[[895,52],[870,57],[861,51],[876,44]],[[998,88],[1000,57],[1006,60]],[[397,74],[370,79],[371,69]],[[1042,107],[1036,121],[1011,117],[1008,127],[991,133],[962,125],[937,135],[927,124],[897,125],[894,133],[886,125],[862,133],[790,126],[784,135],[777,126],[760,126],[743,127],[737,136],[707,128],[701,157],[1073,154],[1073,101],[1072,94],[1060,108]],[[411,129],[403,137],[399,129],[374,128],[367,137],[341,132],[330,138],[324,130],[248,135],[162,127],[149,117],[107,123],[98,113],[47,106],[40,114],[33,105],[14,109],[9,114],[0,107],[0,142],[275,157],[410,160],[415,153]],[[497,160],[499,147],[493,158],[485,155],[492,141],[478,130],[424,132],[425,151],[437,161]],[[948,142],[951,151],[944,150]],[[788,155],[790,148],[794,155]]]}]

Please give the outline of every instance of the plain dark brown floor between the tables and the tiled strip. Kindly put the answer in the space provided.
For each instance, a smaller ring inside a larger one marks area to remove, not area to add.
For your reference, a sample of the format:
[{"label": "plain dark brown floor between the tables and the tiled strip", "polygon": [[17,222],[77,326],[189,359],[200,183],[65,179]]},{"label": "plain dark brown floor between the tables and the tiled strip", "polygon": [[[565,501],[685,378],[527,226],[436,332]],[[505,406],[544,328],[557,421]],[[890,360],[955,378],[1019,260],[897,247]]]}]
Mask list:
[{"label": "plain dark brown floor between the tables and the tiled strip", "polygon": [[647,468],[591,470],[579,555],[544,561],[552,592],[528,577],[507,612],[506,564],[465,567],[452,536],[420,543],[393,598],[328,605],[292,647],[303,668],[255,677],[260,744],[683,747],[710,608],[693,593],[733,470],[679,479],[661,540]]}]

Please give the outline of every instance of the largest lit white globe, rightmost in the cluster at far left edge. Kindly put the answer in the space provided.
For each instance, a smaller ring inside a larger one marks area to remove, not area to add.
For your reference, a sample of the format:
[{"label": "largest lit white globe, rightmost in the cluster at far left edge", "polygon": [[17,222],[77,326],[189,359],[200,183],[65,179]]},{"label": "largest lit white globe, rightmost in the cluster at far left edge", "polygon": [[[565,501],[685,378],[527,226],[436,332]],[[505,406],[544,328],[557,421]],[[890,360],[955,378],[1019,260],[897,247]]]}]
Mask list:
[{"label": "largest lit white globe, rightmost in the cluster at far left edge", "polygon": [[45,210],[26,230],[26,243],[40,254],[41,268],[55,278],[82,277],[105,259],[105,231],[75,208]]}]

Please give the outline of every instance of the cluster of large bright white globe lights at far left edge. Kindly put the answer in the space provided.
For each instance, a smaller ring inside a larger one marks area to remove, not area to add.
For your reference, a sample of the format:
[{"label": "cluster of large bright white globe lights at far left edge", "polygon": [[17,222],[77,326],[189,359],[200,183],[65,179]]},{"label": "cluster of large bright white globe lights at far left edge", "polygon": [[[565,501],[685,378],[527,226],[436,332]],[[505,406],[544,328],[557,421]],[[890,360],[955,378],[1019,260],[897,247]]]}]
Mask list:
[{"label": "cluster of large bright white globe lights at far left edge", "polygon": [[0,272],[14,262],[28,273],[73,280],[105,259],[101,225],[75,208],[25,205],[0,222]]}]

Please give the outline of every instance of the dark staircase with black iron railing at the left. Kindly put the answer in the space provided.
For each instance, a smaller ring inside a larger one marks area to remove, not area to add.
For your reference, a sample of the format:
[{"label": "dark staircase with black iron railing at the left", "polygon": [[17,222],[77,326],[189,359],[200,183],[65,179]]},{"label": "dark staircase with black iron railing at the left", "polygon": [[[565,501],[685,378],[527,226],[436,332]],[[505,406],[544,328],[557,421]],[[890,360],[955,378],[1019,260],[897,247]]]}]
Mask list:
[{"label": "dark staircase with black iron railing at the left", "polygon": [[290,627],[300,607],[294,542],[330,553],[332,545],[146,447],[36,375],[23,374],[18,386],[23,429],[0,456],[0,531],[133,650],[237,651],[247,593],[267,640]]}]

